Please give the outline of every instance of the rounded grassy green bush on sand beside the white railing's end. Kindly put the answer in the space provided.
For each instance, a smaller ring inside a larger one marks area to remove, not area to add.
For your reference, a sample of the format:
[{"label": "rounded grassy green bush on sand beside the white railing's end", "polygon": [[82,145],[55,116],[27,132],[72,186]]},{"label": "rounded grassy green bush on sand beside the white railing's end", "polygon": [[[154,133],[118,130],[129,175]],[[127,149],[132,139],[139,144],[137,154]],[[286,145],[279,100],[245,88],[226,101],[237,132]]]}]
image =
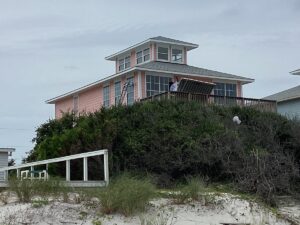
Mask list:
[{"label": "rounded grassy green bush on sand beside the white railing's end", "polygon": [[119,212],[129,216],[144,211],[154,193],[154,186],[149,180],[122,175],[100,191],[101,210],[105,214]]}]

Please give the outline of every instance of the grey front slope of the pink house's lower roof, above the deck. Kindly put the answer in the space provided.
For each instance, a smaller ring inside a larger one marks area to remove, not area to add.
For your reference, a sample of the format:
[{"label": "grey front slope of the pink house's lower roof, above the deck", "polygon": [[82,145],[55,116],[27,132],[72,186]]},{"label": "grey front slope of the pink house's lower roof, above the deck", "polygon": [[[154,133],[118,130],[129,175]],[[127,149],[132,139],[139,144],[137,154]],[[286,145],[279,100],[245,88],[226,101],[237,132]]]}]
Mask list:
[{"label": "grey front slope of the pink house's lower roof, above the deck", "polygon": [[211,78],[219,78],[219,79],[227,79],[227,80],[240,80],[243,83],[251,83],[254,79],[237,76],[229,73],[222,73],[214,70],[208,70],[200,67],[189,66],[186,64],[178,64],[178,63],[169,63],[169,62],[157,62],[151,61],[145,64],[136,65],[136,68],[140,68],[141,70],[154,70],[161,72],[172,72],[178,74],[186,74],[186,75],[195,75],[202,77],[211,77]]}]

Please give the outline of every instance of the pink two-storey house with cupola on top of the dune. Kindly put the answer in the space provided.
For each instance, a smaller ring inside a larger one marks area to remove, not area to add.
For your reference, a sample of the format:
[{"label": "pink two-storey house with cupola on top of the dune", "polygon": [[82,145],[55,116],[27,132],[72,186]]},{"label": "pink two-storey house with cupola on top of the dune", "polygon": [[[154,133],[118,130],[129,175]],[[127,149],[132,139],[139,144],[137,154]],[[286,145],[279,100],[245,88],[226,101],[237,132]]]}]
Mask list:
[{"label": "pink two-storey house with cupola on top of the dune", "polygon": [[115,74],[47,101],[55,104],[55,117],[64,112],[94,112],[120,101],[124,85],[128,86],[123,104],[169,90],[175,76],[216,84],[213,93],[242,97],[243,85],[253,79],[190,66],[188,52],[197,44],[166,37],[153,37],[106,57],[115,62]]}]

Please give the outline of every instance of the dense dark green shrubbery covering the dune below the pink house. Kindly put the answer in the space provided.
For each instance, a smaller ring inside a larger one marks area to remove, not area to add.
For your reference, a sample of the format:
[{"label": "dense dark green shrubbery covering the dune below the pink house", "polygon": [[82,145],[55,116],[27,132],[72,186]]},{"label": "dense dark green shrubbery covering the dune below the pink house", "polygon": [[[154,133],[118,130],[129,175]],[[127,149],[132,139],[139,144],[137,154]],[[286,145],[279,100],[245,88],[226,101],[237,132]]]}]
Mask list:
[{"label": "dense dark green shrubbery covering the dune below the pink house", "polygon": [[271,199],[299,182],[299,122],[250,108],[169,101],[103,108],[50,120],[34,141],[28,161],[108,148],[112,174],[147,172],[161,186],[201,175]]}]

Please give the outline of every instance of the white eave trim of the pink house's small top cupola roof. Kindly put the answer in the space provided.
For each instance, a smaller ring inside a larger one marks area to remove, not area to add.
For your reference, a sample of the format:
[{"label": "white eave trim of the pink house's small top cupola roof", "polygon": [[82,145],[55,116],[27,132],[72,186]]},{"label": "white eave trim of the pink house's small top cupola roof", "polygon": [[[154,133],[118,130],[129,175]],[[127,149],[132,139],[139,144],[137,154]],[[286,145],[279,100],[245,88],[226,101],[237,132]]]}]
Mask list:
[{"label": "white eave trim of the pink house's small top cupola roof", "polygon": [[182,45],[182,46],[188,47],[188,51],[199,47],[199,45],[193,44],[193,43],[188,43],[188,42],[180,43],[180,42],[176,42],[176,40],[174,40],[174,41],[156,40],[155,37],[152,37],[152,38],[149,38],[149,39],[147,39],[145,41],[142,41],[142,42],[139,42],[139,43],[137,43],[135,45],[132,45],[132,46],[130,46],[128,48],[125,48],[125,49],[123,49],[121,51],[118,51],[118,52],[116,52],[116,53],[114,53],[112,55],[109,55],[109,56],[105,57],[105,59],[106,60],[112,60],[112,61],[114,61],[118,55],[121,55],[121,54],[123,54],[125,52],[128,52],[128,51],[130,51],[132,49],[135,49],[135,48],[137,48],[137,47],[139,47],[141,45],[144,45],[144,44],[150,43],[150,42],[163,43],[163,44],[171,44],[171,45],[172,44],[173,45]]}]

